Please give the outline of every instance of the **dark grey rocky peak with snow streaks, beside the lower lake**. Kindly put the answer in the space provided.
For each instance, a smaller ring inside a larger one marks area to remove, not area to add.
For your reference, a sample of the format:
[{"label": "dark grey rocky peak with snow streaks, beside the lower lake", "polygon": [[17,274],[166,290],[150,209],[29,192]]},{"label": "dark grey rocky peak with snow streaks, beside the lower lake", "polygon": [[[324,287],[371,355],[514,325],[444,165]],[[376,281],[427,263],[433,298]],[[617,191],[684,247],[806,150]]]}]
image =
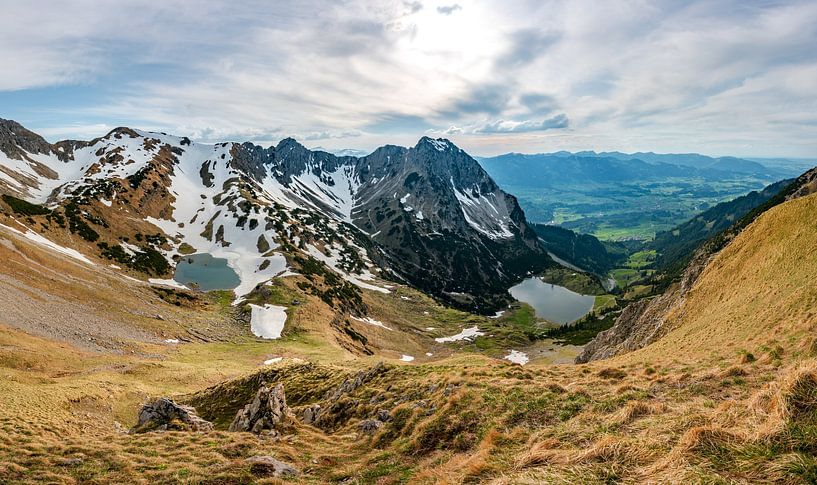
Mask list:
[{"label": "dark grey rocky peak with snow streaks, beside the lower lake", "polygon": [[487,312],[550,264],[516,198],[447,140],[380,148],[357,171],[354,224],[374,235],[382,267],[426,292]]}]

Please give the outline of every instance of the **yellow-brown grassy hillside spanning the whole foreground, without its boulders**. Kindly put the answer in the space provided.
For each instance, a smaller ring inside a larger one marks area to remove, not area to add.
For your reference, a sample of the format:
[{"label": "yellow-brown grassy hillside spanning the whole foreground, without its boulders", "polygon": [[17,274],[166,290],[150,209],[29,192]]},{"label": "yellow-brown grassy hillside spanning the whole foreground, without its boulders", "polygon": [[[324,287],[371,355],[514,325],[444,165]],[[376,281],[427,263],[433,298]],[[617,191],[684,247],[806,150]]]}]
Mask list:
[{"label": "yellow-brown grassy hillside spanning the whole foreground, without its boulders", "polygon": [[[523,367],[451,344],[433,362],[395,355],[379,364],[382,356],[314,338],[331,325],[318,313],[304,314],[288,338],[259,341],[233,319],[229,302],[180,301],[183,293],[156,293],[4,231],[0,256],[14,264],[3,266],[3,284],[31,308],[56,310],[32,320],[68,318],[53,330],[2,327],[0,476],[17,483],[813,482],[815,213],[817,196],[809,195],[758,217],[705,265],[669,316],[673,330],[657,342],[590,364]],[[55,306],[67,300],[84,307]],[[5,297],[3,318],[19,301]],[[434,311],[427,304],[423,311]],[[106,340],[112,350],[45,337],[63,327],[97,339],[113,328],[79,317],[92,312],[127,332]],[[186,342],[149,337],[172,337],[180,327]],[[388,342],[416,334],[400,329],[399,337],[376,328],[369,335]],[[286,426],[228,431],[262,383],[282,384]],[[140,404],[158,396],[193,405],[215,429],[176,423],[128,433]],[[253,462],[257,455],[297,474],[273,477],[273,468]]]}]

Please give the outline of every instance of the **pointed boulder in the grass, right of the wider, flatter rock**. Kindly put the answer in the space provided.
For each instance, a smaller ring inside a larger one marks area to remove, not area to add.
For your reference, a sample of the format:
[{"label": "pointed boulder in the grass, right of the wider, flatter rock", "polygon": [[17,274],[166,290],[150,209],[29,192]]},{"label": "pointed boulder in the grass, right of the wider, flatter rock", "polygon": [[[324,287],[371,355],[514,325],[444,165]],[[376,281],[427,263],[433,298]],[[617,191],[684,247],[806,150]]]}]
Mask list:
[{"label": "pointed boulder in the grass, right of the wider, flatter rock", "polygon": [[262,385],[252,402],[238,411],[229,430],[278,435],[287,431],[292,423],[284,385],[278,384],[272,389]]}]

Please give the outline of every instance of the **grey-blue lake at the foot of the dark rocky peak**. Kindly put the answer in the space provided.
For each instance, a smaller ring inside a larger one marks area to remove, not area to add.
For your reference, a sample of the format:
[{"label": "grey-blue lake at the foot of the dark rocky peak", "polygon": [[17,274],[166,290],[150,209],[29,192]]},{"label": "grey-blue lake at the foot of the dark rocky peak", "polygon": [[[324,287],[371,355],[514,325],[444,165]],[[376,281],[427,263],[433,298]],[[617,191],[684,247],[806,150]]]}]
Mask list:
[{"label": "grey-blue lake at the foot of the dark rocky peak", "polygon": [[537,317],[562,325],[587,315],[596,301],[595,296],[545,283],[538,277],[528,278],[508,291],[517,300],[532,306]]}]

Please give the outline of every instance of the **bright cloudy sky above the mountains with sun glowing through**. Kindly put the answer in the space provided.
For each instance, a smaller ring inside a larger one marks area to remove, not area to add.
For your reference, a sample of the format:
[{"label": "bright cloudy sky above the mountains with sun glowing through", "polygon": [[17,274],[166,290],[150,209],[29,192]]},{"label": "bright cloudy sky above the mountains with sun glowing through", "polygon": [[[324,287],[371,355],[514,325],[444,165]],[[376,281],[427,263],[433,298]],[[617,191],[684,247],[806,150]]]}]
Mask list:
[{"label": "bright cloudy sky above the mountains with sun glowing through", "polygon": [[817,1],[0,0],[0,117],[371,150],[817,157]]}]

